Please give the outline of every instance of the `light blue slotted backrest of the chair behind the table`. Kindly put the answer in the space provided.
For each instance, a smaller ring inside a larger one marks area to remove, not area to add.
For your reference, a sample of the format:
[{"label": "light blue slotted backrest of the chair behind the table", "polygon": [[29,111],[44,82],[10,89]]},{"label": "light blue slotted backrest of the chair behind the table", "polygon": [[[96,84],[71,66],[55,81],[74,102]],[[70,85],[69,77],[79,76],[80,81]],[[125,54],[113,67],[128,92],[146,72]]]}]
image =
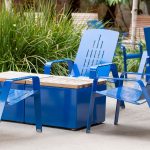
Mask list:
[{"label": "light blue slotted backrest of the chair behind the table", "polygon": [[[88,29],[84,32],[72,76],[89,76],[90,67],[111,63],[118,42],[119,32],[107,29]],[[108,75],[109,68],[103,70]]]}]

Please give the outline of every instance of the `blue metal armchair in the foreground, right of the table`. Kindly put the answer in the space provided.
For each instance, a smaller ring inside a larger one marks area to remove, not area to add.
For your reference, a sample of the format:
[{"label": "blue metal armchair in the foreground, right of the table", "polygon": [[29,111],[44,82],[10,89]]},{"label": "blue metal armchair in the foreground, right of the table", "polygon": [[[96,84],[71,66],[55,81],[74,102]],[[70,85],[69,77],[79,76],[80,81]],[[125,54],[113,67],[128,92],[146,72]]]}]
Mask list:
[{"label": "blue metal armchair in the foreground, right of the table", "polygon": [[[118,123],[119,109],[122,101],[136,104],[136,105],[140,105],[147,102],[148,106],[150,107],[150,94],[149,94],[150,82],[148,82],[147,85],[145,86],[143,81],[141,80],[143,76],[144,66],[146,64],[147,59],[149,59],[149,57],[147,56],[147,52],[145,51],[143,52],[142,55],[139,72],[138,73],[124,72],[121,74],[120,78],[115,64],[106,64],[103,66],[98,66],[98,67],[95,66],[91,68],[90,77],[93,78],[94,81],[93,81],[92,94],[91,94],[91,100],[89,105],[89,114],[87,119],[87,129],[86,129],[87,133],[90,132],[92,113],[94,109],[93,106],[96,97],[105,95],[117,100],[115,120],[114,120],[115,125]],[[102,68],[104,69],[107,65],[110,66],[111,68],[113,78],[101,76],[99,73],[99,71]],[[143,68],[143,70],[141,68]],[[137,75],[136,79],[126,78],[127,74],[136,74]],[[107,89],[104,91],[97,91],[97,82],[99,78],[106,79],[108,82],[111,82],[113,80],[115,83],[115,88]],[[126,87],[123,85],[124,81],[135,82],[135,85],[133,88]]]}]

